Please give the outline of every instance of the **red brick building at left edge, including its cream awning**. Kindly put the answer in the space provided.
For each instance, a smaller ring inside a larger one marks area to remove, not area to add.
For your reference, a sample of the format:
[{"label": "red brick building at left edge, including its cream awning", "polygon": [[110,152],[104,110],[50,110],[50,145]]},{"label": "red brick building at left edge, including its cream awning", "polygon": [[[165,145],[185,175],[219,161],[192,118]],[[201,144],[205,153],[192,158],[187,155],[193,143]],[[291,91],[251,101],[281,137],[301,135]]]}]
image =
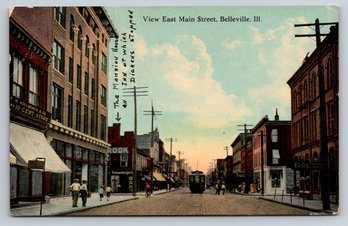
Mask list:
[{"label": "red brick building at left edge, including its cream awning", "polygon": [[49,7],[16,7],[10,12],[11,204],[50,194],[50,175],[70,173],[45,135],[51,118],[47,82],[52,20]]}]

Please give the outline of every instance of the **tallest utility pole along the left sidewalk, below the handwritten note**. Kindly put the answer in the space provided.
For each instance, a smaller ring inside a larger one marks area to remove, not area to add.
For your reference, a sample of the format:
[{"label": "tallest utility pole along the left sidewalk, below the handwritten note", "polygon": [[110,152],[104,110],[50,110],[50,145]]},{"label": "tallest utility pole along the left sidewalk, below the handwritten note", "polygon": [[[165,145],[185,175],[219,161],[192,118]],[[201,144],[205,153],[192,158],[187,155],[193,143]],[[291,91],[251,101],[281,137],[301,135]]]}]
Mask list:
[{"label": "tallest utility pole along the left sidewalk, below the handwritten note", "polygon": [[124,88],[123,93],[125,97],[134,97],[134,148],[132,155],[132,168],[133,168],[133,196],[137,196],[137,96],[147,96],[148,91],[145,90],[148,87],[136,87]]}]

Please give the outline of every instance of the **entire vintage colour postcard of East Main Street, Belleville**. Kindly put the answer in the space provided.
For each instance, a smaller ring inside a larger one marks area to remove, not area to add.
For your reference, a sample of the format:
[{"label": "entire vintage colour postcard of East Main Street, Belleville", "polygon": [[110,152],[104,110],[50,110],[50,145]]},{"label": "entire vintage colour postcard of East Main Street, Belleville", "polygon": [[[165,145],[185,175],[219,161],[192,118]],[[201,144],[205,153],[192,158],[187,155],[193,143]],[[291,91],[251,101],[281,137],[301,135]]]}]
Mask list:
[{"label": "entire vintage colour postcard of East Main Street, Belleville", "polygon": [[10,8],[10,215],[337,215],[339,12]]}]

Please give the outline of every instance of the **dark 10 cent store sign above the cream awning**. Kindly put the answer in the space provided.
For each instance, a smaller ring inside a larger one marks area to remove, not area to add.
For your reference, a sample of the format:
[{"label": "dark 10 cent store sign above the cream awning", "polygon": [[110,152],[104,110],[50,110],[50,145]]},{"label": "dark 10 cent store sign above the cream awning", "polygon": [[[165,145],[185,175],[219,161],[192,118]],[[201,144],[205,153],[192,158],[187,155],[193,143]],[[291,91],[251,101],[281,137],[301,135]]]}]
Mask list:
[{"label": "dark 10 cent store sign above the cream awning", "polygon": [[23,116],[44,125],[49,123],[51,119],[51,114],[49,112],[26,103],[14,96],[11,96],[10,109],[15,115]]}]

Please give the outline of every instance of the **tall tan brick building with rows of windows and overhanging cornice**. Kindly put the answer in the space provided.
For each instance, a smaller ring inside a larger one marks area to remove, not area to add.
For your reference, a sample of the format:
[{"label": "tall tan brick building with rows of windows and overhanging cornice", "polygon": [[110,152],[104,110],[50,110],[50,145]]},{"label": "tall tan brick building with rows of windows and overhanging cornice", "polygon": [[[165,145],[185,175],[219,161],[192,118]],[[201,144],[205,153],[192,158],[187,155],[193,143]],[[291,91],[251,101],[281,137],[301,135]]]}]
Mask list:
[{"label": "tall tan brick building with rows of windows and overhanging cornice", "polygon": [[68,194],[77,178],[91,192],[106,183],[108,44],[116,37],[102,7],[52,8],[47,137],[71,174],[54,177],[52,195]]}]

